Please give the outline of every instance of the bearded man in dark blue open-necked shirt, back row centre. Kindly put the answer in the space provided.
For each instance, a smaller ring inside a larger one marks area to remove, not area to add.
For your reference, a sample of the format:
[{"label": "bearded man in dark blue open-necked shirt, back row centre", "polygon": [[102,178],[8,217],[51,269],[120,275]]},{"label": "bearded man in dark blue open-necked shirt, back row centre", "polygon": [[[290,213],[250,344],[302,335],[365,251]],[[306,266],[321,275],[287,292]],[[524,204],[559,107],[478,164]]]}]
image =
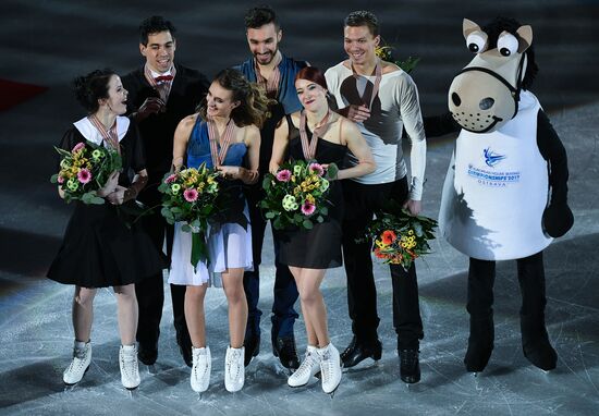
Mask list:
[{"label": "bearded man in dark blue open-necked shirt, back row centre", "polygon": [[[244,274],[244,289],[247,296],[249,315],[245,332],[245,365],[260,351],[259,266],[261,262],[262,242],[266,220],[257,207],[265,194],[261,188],[262,178],[268,172],[272,154],[274,129],[279,121],[302,108],[295,91],[295,74],[308,65],[305,61],[295,61],[279,50],[283,32],[277,21],[274,11],[268,7],[253,8],[245,14],[247,44],[253,57],[237,69],[252,82],[261,85],[269,98],[276,100],[270,106],[271,115],[260,131],[260,179],[256,185],[246,187],[249,218],[252,221],[252,245],[254,252],[254,271]],[[274,241],[274,302],[272,305],[272,353],[281,364],[290,369],[300,366],[293,325],[298,317],[293,306],[297,301],[297,287],[289,268],[278,261],[277,241]]]}]

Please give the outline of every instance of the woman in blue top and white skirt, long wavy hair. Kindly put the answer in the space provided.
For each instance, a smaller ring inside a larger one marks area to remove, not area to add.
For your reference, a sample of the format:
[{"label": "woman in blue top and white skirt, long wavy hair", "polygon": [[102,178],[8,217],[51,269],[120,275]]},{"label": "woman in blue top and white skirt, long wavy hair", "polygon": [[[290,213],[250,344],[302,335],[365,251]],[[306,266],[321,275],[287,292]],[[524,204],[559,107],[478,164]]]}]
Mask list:
[{"label": "woman in blue top and white skirt, long wavy hair", "polygon": [[191,233],[183,232],[181,224],[175,227],[169,282],[187,286],[185,319],[193,345],[191,384],[196,392],[206,391],[210,381],[211,356],[206,342],[204,297],[213,273],[221,273],[229,303],[230,346],[225,356],[224,387],[234,392],[244,384],[247,302],[243,273],[250,270],[253,264],[249,216],[242,186],[258,179],[259,126],[267,113],[267,102],[264,93],[241,72],[224,70],[212,81],[199,112],[183,119],[174,133],[173,168],[197,168],[201,163],[216,167],[222,179],[221,189],[225,188],[232,196],[224,212],[227,220],[218,230],[207,233],[208,265],[199,261],[194,270],[190,262]]}]

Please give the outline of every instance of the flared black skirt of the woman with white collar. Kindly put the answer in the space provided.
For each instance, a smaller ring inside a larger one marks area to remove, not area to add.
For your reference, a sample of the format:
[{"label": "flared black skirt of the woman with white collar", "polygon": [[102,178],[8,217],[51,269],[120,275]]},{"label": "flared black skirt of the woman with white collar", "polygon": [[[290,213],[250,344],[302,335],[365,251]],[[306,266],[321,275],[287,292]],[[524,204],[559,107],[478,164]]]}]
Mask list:
[{"label": "flared black skirt of the woman with white collar", "polygon": [[76,203],[48,278],[83,287],[107,287],[136,283],[168,267],[139,224],[131,224],[134,218],[125,213],[126,208]]}]

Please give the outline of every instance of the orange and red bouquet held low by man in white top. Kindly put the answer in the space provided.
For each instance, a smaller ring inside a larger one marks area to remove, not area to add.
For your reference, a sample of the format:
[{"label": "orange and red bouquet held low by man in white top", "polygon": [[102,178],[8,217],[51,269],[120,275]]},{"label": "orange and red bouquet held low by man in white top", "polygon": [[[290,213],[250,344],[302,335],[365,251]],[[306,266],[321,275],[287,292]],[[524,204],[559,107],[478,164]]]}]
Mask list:
[{"label": "orange and red bouquet held low by man in white top", "polygon": [[429,240],[435,238],[437,221],[411,216],[405,209],[377,212],[366,229],[372,240],[372,253],[387,265],[401,265],[405,270],[417,257],[430,253]]}]

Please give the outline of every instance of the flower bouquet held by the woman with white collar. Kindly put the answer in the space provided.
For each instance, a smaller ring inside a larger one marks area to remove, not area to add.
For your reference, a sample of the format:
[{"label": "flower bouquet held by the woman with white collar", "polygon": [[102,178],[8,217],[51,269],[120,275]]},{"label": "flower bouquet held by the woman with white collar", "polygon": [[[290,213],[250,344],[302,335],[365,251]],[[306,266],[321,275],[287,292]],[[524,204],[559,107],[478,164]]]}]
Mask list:
[{"label": "flower bouquet held by the woman with white collar", "polygon": [[81,200],[84,204],[101,205],[97,195],[110,174],[122,168],[121,155],[91,142],[77,143],[71,151],[54,147],[62,157],[60,171],[50,178],[64,192],[64,200]]}]

